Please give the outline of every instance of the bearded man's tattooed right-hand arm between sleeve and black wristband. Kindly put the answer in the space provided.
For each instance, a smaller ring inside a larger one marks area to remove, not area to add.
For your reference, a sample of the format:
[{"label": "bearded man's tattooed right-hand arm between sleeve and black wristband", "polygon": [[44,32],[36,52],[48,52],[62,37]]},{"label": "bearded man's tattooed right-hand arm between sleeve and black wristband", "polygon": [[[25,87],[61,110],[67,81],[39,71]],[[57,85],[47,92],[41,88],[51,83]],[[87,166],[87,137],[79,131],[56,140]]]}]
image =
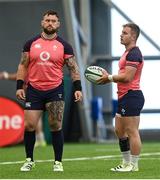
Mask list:
[{"label": "bearded man's tattooed right-hand arm between sleeve and black wristband", "polygon": [[80,80],[79,68],[76,63],[75,57],[66,59],[66,65],[71,73],[71,78],[73,81]]}]

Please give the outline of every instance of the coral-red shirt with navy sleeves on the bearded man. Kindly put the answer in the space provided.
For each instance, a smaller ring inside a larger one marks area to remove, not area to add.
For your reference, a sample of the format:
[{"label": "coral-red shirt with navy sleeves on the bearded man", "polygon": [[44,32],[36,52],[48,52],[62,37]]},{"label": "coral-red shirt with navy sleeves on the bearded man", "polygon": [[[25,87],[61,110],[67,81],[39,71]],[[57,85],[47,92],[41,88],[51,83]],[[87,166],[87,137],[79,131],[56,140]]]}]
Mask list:
[{"label": "coral-red shirt with navy sleeves on the bearded man", "polygon": [[65,59],[74,56],[71,45],[59,36],[48,40],[38,35],[25,43],[23,52],[29,54],[27,82],[44,91],[62,83]]}]

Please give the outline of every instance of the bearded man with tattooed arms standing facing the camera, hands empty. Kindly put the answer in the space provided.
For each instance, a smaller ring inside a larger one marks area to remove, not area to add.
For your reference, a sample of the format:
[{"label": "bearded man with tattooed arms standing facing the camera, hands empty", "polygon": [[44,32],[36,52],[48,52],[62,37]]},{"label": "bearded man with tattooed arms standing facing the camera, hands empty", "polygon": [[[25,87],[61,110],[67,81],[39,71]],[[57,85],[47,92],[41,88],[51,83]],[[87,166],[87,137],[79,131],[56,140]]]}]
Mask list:
[{"label": "bearded man with tattooed arms standing facing the camera, hands empty", "polygon": [[[80,74],[71,45],[57,35],[60,27],[57,12],[52,10],[45,12],[41,27],[41,34],[24,44],[17,71],[16,96],[19,100],[25,101],[26,160],[20,171],[31,171],[35,167],[33,159],[35,129],[42,112],[47,110],[54,150],[53,171],[62,172],[63,66],[66,65],[70,71],[75,101],[82,99]],[[26,91],[24,81],[27,81]]]}]

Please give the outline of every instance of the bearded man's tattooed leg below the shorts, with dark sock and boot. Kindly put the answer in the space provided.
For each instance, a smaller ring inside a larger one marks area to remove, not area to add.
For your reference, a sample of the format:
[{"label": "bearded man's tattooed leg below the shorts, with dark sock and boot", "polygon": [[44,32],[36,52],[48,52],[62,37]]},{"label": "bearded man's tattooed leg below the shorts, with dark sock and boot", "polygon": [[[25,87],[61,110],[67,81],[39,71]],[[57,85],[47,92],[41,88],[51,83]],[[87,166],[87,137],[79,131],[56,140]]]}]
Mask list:
[{"label": "bearded man's tattooed leg below the shorts, with dark sock and boot", "polygon": [[63,171],[63,131],[62,120],[64,113],[64,101],[53,101],[46,104],[48,110],[48,120],[52,134],[52,145],[54,149],[55,164],[54,171]]}]

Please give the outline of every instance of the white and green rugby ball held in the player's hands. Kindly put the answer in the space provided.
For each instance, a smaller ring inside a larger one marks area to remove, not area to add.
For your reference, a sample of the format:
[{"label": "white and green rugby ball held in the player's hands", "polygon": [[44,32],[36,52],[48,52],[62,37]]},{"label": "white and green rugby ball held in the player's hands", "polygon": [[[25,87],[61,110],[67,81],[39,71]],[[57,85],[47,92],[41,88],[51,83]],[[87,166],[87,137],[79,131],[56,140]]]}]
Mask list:
[{"label": "white and green rugby ball held in the player's hands", "polygon": [[103,75],[103,71],[105,71],[105,69],[103,69],[102,67],[89,66],[86,68],[84,75],[88,81],[97,84],[96,81]]}]

